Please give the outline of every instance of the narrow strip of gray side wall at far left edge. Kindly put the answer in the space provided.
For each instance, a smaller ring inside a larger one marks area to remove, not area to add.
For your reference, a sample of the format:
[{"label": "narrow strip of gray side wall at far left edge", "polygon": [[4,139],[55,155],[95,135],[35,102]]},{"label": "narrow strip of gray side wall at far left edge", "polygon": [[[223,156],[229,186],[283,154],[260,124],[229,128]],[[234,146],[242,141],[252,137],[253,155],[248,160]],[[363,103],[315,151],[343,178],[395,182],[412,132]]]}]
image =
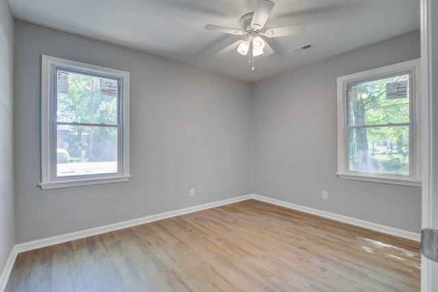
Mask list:
[{"label": "narrow strip of gray side wall at far left edge", "polygon": [[13,166],[14,20],[0,0],[0,273],[15,243]]}]

